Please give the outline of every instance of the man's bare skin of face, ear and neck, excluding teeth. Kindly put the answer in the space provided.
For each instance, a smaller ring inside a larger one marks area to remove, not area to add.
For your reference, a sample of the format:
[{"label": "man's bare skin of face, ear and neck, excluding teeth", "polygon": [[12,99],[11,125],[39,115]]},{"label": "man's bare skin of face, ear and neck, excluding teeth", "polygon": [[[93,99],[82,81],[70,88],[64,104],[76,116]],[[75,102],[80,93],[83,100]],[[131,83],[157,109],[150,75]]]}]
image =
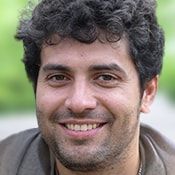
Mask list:
[{"label": "man's bare skin of face, ear and neck, excluding teeth", "polygon": [[[127,42],[83,44],[64,39],[43,45],[36,108],[43,138],[60,175],[136,175],[139,114],[148,112],[157,77],[140,95]],[[72,131],[66,124],[97,124]]]}]

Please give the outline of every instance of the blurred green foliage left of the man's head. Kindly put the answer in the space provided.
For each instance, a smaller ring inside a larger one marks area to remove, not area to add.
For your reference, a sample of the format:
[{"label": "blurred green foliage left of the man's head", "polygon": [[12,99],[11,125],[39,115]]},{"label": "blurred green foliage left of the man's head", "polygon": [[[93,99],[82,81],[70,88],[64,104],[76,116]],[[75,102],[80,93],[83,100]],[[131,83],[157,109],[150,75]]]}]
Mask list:
[{"label": "blurred green foliage left of the man's head", "polygon": [[0,111],[26,110],[34,106],[31,85],[20,61],[22,44],[14,35],[20,10],[27,0],[0,1]]}]

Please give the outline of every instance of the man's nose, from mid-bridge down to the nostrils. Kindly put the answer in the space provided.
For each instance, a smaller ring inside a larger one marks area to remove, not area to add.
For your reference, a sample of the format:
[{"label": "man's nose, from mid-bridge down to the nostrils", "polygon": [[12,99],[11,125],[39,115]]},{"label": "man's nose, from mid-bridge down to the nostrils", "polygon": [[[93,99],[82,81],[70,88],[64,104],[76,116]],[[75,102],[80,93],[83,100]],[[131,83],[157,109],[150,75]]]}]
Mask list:
[{"label": "man's nose, from mid-bridge down to the nostrils", "polygon": [[96,98],[83,82],[78,82],[72,87],[65,101],[65,106],[74,113],[95,109],[96,105]]}]

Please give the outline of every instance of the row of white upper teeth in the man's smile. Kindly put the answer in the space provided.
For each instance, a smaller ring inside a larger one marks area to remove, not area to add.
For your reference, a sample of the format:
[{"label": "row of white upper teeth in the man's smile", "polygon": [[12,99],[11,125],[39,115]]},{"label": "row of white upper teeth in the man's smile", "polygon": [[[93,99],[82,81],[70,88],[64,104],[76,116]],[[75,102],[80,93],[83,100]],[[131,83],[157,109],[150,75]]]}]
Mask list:
[{"label": "row of white upper teeth in the man's smile", "polygon": [[73,131],[88,131],[92,129],[96,129],[99,125],[97,124],[66,124],[66,128]]}]

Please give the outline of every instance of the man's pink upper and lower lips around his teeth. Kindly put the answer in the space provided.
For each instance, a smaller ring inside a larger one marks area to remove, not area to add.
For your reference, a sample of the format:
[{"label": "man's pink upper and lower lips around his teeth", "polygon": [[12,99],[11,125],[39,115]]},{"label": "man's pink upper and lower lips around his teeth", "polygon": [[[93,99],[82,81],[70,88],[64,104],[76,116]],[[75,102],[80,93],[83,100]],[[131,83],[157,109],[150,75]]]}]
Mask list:
[{"label": "man's pink upper and lower lips around his teeth", "polygon": [[[68,129],[66,127],[67,124],[74,124],[74,125],[97,124],[98,127],[87,131],[75,131],[75,130]],[[106,122],[95,121],[95,120],[68,120],[68,121],[59,122],[59,125],[63,130],[63,134],[66,137],[69,137],[70,139],[74,139],[74,140],[85,140],[85,139],[93,138],[100,133],[100,131],[103,129],[103,127],[106,124],[107,124]]]}]

